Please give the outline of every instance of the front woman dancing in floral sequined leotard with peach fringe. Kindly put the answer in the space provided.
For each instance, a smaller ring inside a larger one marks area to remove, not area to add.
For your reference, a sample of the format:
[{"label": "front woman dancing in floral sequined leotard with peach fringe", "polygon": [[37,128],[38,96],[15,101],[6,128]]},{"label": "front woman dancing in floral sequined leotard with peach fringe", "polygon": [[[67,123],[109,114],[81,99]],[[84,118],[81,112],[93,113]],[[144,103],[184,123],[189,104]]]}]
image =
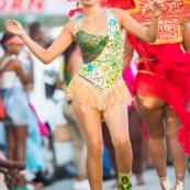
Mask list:
[{"label": "front woman dancing in floral sequined leotard with peach fringe", "polygon": [[[115,148],[119,171],[118,189],[131,190],[132,149],[128,138],[126,104],[132,97],[122,79],[124,29],[146,42],[157,37],[158,18],[163,3],[155,0],[152,7],[152,24],[144,27],[128,13],[120,9],[101,9],[99,0],[81,0],[83,14],[69,21],[54,43],[44,49],[35,44],[16,21],[5,23],[8,31],[18,34],[44,64],[62,54],[77,40],[83,64],[72,78],[67,96],[81,124],[88,148],[87,175],[92,190],[102,189],[102,134],[101,121],[105,121]],[[88,32],[87,32],[88,31]]]}]

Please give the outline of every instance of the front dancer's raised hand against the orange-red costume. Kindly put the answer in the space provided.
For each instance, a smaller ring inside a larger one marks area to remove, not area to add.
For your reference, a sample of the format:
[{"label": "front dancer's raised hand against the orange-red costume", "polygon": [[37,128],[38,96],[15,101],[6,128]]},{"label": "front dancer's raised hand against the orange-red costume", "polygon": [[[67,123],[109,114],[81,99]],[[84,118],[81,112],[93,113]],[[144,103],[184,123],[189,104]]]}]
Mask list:
[{"label": "front dancer's raised hand against the orange-red costume", "polygon": [[153,16],[159,18],[159,15],[163,13],[165,9],[163,0],[153,0],[153,5],[152,5],[152,13]]}]

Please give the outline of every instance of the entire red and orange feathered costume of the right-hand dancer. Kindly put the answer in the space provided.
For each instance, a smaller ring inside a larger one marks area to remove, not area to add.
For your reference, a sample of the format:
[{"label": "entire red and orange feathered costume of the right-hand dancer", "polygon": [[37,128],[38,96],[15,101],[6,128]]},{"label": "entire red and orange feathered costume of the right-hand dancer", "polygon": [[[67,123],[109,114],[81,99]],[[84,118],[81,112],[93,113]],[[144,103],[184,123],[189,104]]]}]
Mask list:
[{"label": "entire red and orange feathered costume of the right-hand dancer", "polygon": [[[105,4],[130,10],[136,21],[149,26],[150,1],[105,0]],[[165,7],[166,11],[159,19],[156,43],[139,43],[135,36],[128,34],[128,41],[139,55],[135,93],[159,97],[174,109],[182,126],[178,131],[178,141],[185,154],[190,155],[190,52],[183,53],[180,35],[180,23],[190,21],[190,0],[166,0]]]}]

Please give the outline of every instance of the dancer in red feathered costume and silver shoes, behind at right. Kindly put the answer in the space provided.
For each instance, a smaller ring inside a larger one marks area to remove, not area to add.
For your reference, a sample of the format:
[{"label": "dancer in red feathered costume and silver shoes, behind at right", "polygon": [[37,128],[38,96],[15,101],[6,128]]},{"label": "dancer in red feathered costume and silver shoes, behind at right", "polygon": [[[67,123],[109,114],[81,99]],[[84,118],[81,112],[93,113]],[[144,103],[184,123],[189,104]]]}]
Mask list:
[{"label": "dancer in red feathered costume and silver shoes, behind at right", "polygon": [[[150,1],[128,2],[131,15],[148,26]],[[122,9],[126,7],[121,5]],[[107,2],[107,7],[112,7],[112,2]],[[171,190],[166,170],[167,135],[176,172],[175,190],[185,190],[186,155],[190,155],[190,52],[185,53],[190,51],[190,27],[186,23],[190,21],[190,0],[166,0],[165,7],[157,41],[149,44],[128,34],[131,44],[125,42],[125,56],[131,52],[130,46],[139,55],[135,105],[148,130],[150,153],[161,189]]]}]

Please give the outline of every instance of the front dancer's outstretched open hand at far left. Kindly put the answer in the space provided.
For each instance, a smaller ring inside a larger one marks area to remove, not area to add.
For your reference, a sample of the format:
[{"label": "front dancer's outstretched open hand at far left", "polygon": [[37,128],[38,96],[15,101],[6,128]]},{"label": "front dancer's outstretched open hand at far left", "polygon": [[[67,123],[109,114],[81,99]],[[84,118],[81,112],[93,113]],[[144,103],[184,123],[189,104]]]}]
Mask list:
[{"label": "front dancer's outstretched open hand at far left", "polygon": [[5,29],[15,35],[21,36],[22,34],[24,34],[24,30],[23,30],[22,25],[14,20],[8,20],[5,22]]}]

